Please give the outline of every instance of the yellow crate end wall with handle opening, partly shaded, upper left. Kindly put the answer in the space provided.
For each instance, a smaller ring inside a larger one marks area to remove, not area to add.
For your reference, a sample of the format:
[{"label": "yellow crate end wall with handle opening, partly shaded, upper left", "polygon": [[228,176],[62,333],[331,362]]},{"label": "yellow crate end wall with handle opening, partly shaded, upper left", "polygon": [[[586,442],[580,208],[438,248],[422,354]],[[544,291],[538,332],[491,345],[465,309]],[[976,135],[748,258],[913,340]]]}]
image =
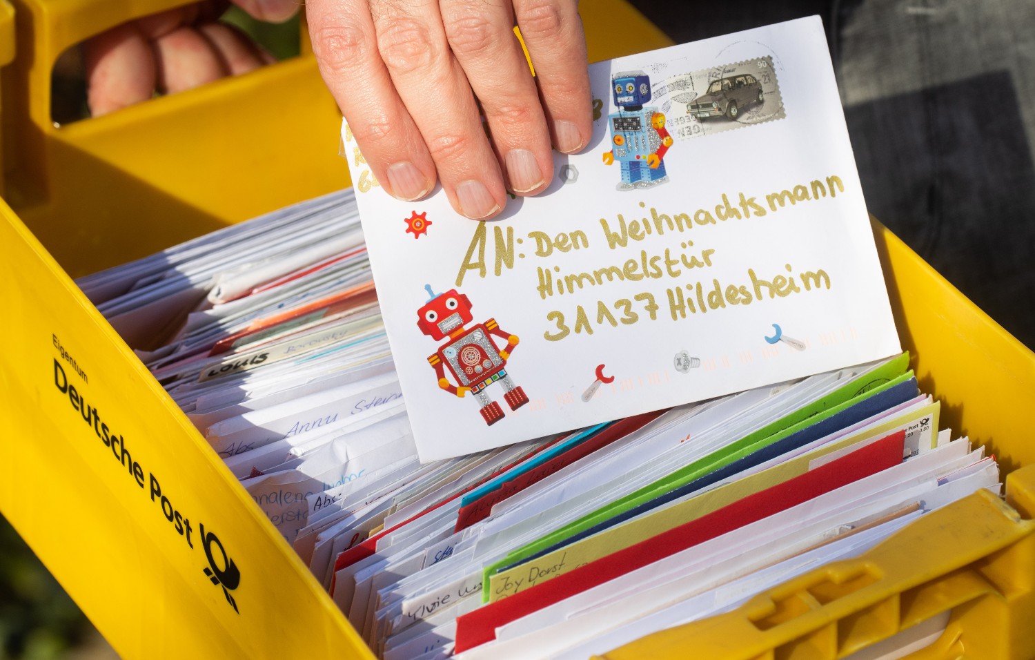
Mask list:
[{"label": "yellow crate end wall with handle opening, partly shaded, upper left", "polygon": [[312,57],[52,123],[51,71],[65,49],[177,4],[14,0],[5,196],[73,277],[349,184],[341,119]]}]

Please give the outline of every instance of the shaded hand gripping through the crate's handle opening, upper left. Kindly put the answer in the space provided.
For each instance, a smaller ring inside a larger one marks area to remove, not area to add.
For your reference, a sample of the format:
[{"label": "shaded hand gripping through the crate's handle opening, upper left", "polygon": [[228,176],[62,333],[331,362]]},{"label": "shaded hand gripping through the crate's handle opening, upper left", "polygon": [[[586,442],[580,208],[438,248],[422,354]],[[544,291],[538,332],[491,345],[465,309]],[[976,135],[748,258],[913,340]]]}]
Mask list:
[{"label": "shaded hand gripping through the crate's handle opening, upper left", "polygon": [[[234,0],[253,17],[286,21],[295,0]],[[87,104],[93,116],[273,61],[233,26],[217,19],[228,2],[205,0],[118,25],[83,44]]]}]

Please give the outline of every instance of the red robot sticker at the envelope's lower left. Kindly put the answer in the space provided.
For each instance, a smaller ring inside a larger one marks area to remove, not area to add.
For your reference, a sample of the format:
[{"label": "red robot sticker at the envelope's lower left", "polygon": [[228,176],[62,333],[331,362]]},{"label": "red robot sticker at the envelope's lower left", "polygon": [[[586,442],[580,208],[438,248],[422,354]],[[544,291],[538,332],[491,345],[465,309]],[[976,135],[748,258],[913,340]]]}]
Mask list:
[{"label": "red robot sticker at the envelope's lower left", "polygon": [[[525,391],[515,385],[507,375],[507,358],[518,345],[518,337],[500,329],[496,319],[484,323],[467,324],[474,320],[471,300],[455,289],[436,294],[430,284],[424,285],[431,299],[417,310],[417,327],[424,335],[438,341],[448,339],[434,355],[427,358],[439,377],[439,386],[449,394],[463,398],[468,392],[478,400],[481,417],[492,426],[503,419],[500,404],[485,393],[485,389],[499,381],[503,385],[503,399],[516,410],[526,403]],[[506,340],[502,350],[492,336]],[[457,384],[446,378],[446,369]]]}]

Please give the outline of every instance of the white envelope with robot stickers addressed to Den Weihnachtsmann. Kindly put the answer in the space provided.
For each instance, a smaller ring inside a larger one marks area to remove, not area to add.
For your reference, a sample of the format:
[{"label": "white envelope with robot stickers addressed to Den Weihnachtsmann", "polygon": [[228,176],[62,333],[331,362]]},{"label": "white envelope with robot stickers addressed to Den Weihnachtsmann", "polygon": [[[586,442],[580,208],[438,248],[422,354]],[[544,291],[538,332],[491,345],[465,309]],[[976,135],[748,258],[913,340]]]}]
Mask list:
[{"label": "white envelope with robot stickers addressed to Den Weihnachtsmann", "polygon": [[344,126],[422,460],[899,351],[818,19],[591,65],[502,217],[388,196]]}]

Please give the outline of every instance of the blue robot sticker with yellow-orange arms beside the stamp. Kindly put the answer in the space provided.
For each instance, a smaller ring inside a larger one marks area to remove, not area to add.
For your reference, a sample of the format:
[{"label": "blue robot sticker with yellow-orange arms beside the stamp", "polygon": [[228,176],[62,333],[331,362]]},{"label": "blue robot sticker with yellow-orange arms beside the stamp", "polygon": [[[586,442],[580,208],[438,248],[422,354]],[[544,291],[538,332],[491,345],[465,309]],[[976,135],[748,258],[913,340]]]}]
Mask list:
[{"label": "blue robot sticker with yellow-orange arms beside the stamp", "polygon": [[653,188],[669,180],[664,172],[664,152],[672,146],[672,136],[664,127],[664,115],[657,108],[644,107],[650,101],[650,78],[643,71],[623,71],[611,78],[611,90],[618,112],[611,121],[611,151],[603,163],[618,161],[622,182],[616,188],[631,191]]}]

